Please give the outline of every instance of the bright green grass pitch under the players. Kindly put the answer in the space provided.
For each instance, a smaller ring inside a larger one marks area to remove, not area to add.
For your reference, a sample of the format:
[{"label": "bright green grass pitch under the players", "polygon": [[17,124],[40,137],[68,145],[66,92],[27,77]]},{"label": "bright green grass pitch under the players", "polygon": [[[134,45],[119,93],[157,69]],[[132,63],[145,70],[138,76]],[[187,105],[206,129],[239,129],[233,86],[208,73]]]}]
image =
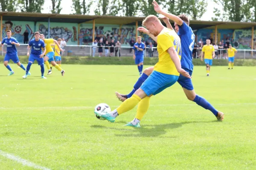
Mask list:
[{"label": "bright green grass pitch under the players", "polygon": [[0,170],[256,169],[255,67],[212,67],[210,77],[195,67],[197,94],[225,113],[223,122],[175,84],[152,97],[134,129],[122,125],[136,108],[115,123],[97,120],[93,109],[116,108],[114,92],[131,91],[137,66],[63,65],[64,77],[54,68],[48,79],[38,65],[27,79],[11,66],[10,77],[0,67]]}]

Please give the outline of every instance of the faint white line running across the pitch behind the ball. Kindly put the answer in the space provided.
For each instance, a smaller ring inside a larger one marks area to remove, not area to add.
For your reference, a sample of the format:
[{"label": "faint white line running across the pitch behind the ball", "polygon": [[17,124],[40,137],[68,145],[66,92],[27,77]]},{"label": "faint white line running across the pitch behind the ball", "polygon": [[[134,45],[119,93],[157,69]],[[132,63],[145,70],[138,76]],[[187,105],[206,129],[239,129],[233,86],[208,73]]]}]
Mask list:
[{"label": "faint white line running across the pitch behind the ball", "polygon": [[[150,106],[194,106],[196,104],[170,104],[170,105],[150,105]],[[214,104],[219,106],[232,106],[232,105],[256,105],[256,103],[229,103],[229,104]],[[112,106],[113,108],[118,106]],[[70,106],[70,107],[24,107],[24,108],[0,108],[0,110],[12,109],[92,109],[93,106]]]}]

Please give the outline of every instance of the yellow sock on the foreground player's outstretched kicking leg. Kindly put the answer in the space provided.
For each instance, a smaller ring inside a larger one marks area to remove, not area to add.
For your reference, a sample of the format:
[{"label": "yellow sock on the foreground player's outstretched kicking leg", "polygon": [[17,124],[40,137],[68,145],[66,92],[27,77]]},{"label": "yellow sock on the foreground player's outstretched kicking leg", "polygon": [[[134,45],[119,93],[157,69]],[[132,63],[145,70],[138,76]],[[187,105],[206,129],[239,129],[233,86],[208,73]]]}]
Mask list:
[{"label": "yellow sock on the foreground player's outstretched kicking leg", "polygon": [[140,97],[136,94],[132,95],[129,99],[126,99],[122,104],[116,109],[117,113],[120,115],[127,111],[133,109],[141,101]]}]

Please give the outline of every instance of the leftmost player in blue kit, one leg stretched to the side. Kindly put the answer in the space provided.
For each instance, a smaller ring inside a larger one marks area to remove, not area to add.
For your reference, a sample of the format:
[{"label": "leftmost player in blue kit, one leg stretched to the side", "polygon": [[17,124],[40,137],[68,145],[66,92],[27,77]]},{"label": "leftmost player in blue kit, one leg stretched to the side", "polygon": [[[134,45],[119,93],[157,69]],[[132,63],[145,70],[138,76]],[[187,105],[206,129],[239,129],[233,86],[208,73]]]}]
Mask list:
[{"label": "leftmost player in blue kit, one leg stretched to the side", "polygon": [[[26,71],[26,68],[24,67],[23,64],[20,63],[19,58],[18,58],[18,54],[17,54],[17,49],[15,47],[15,45],[20,46],[19,42],[17,42],[17,40],[14,37],[12,37],[12,31],[11,30],[7,30],[6,35],[7,35],[7,37],[4,38],[2,43],[1,43],[2,46],[3,46],[3,44],[6,44],[6,46],[7,46],[6,56],[4,57],[3,65],[6,66],[6,68],[9,71],[11,71],[10,74],[8,74],[8,76],[11,76],[12,74],[14,74],[14,71],[12,71],[12,68],[8,64],[10,59],[14,63],[17,63],[17,65],[20,66],[20,68],[22,68],[23,70]],[[28,74],[30,74],[30,73],[28,73]]]}]

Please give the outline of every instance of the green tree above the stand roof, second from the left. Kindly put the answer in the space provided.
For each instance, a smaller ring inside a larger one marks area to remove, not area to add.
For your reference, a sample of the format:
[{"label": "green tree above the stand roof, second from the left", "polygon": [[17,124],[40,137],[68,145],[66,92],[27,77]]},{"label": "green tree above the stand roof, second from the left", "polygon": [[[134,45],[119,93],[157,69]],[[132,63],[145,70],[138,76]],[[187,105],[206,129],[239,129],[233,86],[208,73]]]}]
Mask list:
[{"label": "green tree above the stand roof, second from the left", "polygon": [[18,0],[22,12],[39,12],[43,9],[44,0]]}]

